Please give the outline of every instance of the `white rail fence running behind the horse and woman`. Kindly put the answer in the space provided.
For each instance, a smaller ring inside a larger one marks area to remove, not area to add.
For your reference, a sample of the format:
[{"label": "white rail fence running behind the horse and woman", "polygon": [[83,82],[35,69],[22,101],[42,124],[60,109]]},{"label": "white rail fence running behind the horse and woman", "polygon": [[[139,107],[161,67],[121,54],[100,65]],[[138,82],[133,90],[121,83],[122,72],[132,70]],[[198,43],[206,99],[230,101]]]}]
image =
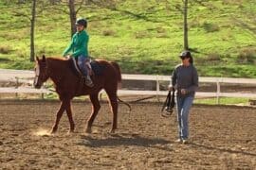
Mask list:
[{"label": "white rail fence running behind the horse and woman", "polygon": [[[0,69],[0,82],[27,82],[27,84],[32,84],[34,77],[33,71],[22,71],[22,70],[7,70]],[[152,80],[156,83],[155,91],[134,91],[134,90],[119,90],[119,94],[128,95],[166,95],[166,91],[160,91],[161,81],[170,81],[171,76],[157,76],[157,75],[127,75],[122,74],[122,79],[126,80]],[[256,85],[256,79],[252,78],[230,78],[230,77],[199,77],[200,83],[216,83],[216,92],[197,92],[196,96],[201,97],[245,97],[245,98],[256,98],[256,93],[222,93],[221,83],[230,84],[250,84]],[[30,87],[2,87],[0,88],[0,93],[51,93],[46,89],[33,89]]]}]

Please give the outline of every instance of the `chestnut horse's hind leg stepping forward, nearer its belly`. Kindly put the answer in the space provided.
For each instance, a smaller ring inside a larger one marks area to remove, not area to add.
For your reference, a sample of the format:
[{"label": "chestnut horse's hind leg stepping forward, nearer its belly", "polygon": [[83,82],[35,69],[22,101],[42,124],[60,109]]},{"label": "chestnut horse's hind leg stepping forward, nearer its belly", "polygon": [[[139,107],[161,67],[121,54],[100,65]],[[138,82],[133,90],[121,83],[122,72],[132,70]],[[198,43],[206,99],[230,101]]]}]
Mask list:
[{"label": "chestnut horse's hind leg stepping forward, nearer its belly", "polygon": [[92,113],[90,115],[90,118],[87,121],[87,127],[85,132],[91,133],[92,132],[92,124],[94,122],[94,119],[96,118],[99,110],[101,109],[100,101],[99,101],[99,93],[94,93],[90,95],[90,100],[92,102]]}]

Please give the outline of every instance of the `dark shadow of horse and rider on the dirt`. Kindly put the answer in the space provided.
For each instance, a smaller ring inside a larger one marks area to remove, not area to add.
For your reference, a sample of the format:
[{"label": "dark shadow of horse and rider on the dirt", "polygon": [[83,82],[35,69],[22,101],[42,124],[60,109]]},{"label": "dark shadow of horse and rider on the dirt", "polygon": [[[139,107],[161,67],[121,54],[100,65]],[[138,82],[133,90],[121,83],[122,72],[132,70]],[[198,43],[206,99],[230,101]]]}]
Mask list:
[{"label": "dark shadow of horse and rider on the dirt", "polygon": [[155,147],[163,150],[172,150],[168,144],[170,141],[161,138],[146,138],[137,134],[109,134],[106,138],[96,138],[90,135],[82,135],[82,145],[89,147],[103,147],[103,146],[142,146],[142,147]]}]

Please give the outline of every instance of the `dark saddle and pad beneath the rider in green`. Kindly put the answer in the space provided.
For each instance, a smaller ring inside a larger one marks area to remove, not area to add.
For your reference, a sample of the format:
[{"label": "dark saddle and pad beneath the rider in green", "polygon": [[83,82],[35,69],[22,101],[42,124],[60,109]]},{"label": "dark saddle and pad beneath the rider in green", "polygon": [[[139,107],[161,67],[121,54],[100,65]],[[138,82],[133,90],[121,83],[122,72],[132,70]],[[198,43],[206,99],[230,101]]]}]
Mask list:
[{"label": "dark saddle and pad beneath the rider in green", "polygon": [[[71,62],[72,70],[76,73],[78,76],[82,76],[82,71],[79,68],[78,60],[75,58],[69,58]],[[90,60],[89,62],[85,62],[86,68],[88,71],[89,76],[101,76],[103,72],[103,67],[101,66],[100,62],[97,60]]]}]

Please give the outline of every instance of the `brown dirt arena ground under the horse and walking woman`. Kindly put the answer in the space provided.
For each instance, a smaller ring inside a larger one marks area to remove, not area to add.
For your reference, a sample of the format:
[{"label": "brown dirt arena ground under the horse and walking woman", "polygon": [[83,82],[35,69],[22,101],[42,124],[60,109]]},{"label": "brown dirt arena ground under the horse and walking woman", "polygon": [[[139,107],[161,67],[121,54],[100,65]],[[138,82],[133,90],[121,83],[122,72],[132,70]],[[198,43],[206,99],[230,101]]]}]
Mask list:
[{"label": "brown dirt arena ground under the horse and walking woman", "polygon": [[176,116],[160,116],[157,103],[119,105],[119,129],[102,103],[92,134],[85,134],[88,102],[74,102],[74,134],[64,114],[47,134],[59,102],[0,101],[1,169],[255,169],[256,109],[193,106],[190,144],[176,144]]}]

